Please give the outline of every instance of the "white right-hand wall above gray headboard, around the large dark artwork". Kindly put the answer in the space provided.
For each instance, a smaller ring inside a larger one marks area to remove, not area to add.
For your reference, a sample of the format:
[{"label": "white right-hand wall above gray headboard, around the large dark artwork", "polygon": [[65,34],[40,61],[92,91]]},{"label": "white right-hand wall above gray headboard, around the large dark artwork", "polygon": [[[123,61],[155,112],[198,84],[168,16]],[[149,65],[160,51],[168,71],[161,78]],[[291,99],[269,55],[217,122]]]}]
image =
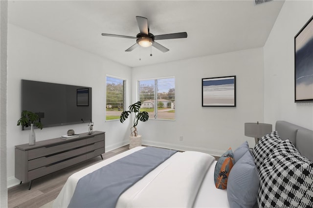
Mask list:
[{"label": "white right-hand wall above gray headboard, around the large dark artwork", "polygon": [[294,36],[312,15],[312,0],[286,0],[264,46],[266,123],[313,129],[313,103],[294,103]]}]

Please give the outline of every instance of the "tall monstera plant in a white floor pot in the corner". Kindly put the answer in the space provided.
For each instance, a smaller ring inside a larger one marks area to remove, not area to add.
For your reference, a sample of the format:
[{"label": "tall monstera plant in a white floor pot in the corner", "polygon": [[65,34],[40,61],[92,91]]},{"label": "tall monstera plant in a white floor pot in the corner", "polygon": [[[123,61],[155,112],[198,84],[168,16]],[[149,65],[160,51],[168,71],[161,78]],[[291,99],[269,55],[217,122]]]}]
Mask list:
[{"label": "tall monstera plant in a white floor pot in the corner", "polygon": [[138,135],[136,126],[138,121],[146,122],[149,119],[149,114],[147,111],[140,111],[141,102],[138,101],[128,108],[129,110],[123,111],[120,116],[120,122],[123,123],[132,113],[134,113],[134,125],[131,127],[130,145],[129,148],[134,148],[135,146],[141,146],[141,135]]}]

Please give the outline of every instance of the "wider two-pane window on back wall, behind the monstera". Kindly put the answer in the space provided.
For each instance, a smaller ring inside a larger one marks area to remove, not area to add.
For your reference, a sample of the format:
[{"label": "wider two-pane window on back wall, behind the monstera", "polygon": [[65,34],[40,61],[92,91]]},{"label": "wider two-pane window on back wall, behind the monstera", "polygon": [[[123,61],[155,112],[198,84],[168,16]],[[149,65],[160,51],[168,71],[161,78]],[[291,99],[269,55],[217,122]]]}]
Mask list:
[{"label": "wider two-pane window on back wall, behind the monstera", "polygon": [[175,78],[138,81],[138,100],[141,111],[149,113],[149,119],[175,120]]}]

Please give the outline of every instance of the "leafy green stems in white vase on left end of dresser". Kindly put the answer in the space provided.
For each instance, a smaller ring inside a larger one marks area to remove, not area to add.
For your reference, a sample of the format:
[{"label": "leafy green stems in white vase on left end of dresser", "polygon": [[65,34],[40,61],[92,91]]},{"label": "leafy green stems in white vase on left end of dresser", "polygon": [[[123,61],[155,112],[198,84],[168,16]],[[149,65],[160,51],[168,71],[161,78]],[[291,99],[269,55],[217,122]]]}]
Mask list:
[{"label": "leafy green stems in white vase on left end of dresser", "polygon": [[38,128],[43,129],[43,125],[40,122],[40,117],[38,116],[38,113],[23,110],[21,118],[19,119],[17,125],[22,125],[22,130],[24,130],[24,127],[30,126],[29,145],[35,145],[36,135],[33,126],[35,125]]}]

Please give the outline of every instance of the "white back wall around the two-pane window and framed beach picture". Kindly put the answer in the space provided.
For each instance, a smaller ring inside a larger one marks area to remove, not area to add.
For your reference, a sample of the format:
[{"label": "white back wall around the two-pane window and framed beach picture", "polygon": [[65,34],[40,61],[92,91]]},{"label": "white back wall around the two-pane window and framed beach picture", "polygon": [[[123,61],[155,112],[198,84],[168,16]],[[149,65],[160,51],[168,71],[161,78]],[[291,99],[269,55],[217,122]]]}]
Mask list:
[{"label": "white back wall around the two-pane window and framed beach picture", "polygon": [[[263,122],[263,48],[133,68],[137,80],[175,76],[176,121],[150,119],[138,125],[143,144],[221,155],[244,141],[245,122]],[[202,107],[201,79],[236,75],[237,107]],[[179,136],[183,141],[179,141]]]}]

